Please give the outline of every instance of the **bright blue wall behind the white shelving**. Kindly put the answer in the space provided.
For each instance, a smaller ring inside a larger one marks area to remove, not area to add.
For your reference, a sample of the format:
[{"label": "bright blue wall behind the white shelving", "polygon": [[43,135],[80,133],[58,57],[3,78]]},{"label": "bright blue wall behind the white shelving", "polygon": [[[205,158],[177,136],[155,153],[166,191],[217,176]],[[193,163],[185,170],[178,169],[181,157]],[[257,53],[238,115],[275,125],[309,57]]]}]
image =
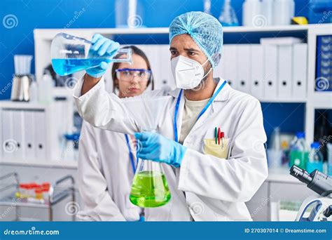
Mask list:
[{"label": "bright blue wall behind the white shelving", "polygon": [[[123,1],[124,0],[119,0]],[[233,0],[237,18],[242,22],[242,0]],[[147,27],[167,27],[172,19],[187,11],[202,11],[201,0],[142,0],[143,24]],[[212,0],[212,14],[219,17],[223,0]],[[14,72],[13,55],[34,54],[35,28],[62,28],[77,15],[84,13],[70,25],[71,28],[115,27],[115,1],[113,0],[1,0],[0,20],[8,14],[17,18],[17,26],[6,28],[0,26],[0,100],[10,98],[10,88]],[[296,1],[296,15],[307,16],[307,1]],[[2,21],[1,21],[2,22]],[[167,41],[162,39],[161,41]],[[34,72],[34,62],[32,65]],[[264,104],[265,127],[268,135],[272,126],[282,124],[282,131],[303,130],[303,106],[296,104],[268,105]],[[295,110],[296,109],[296,110]],[[280,112],[275,116],[273,112]],[[295,110],[295,112],[294,112]],[[292,113],[293,112],[293,113]],[[300,120],[299,120],[300,119]]]}]

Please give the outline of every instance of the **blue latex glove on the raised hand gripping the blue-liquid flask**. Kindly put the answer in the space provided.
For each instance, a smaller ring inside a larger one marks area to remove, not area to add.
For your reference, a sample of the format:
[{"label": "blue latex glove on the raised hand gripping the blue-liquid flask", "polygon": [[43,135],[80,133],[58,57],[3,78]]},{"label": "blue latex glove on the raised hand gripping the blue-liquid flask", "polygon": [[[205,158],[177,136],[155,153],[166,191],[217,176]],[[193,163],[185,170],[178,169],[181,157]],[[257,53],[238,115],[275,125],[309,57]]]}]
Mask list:
[{"label": "blue latex glove on the raised hand gripping the blue-liquid flask", "polygon": [[[107,39],[100,34],[94,34],[92,36],[91,42],[92,45],[89,50],[90,58],[100,58],[103,56],[111,58],[120,48],[120,44],[118,44],[116,41]],[[100,76],[105,74],[108,67],[109,63],[100,62],[99,66],[86,69],[86,73],[95,78],[99,78]]]}]

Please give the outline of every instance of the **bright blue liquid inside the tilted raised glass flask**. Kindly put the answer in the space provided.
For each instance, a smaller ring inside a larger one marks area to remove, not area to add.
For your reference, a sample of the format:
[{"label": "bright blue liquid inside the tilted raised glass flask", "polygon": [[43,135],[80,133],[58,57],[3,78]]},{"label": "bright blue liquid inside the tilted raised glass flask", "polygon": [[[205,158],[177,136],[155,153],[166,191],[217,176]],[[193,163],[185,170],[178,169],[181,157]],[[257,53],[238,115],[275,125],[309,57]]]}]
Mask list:
[{"label": "bright blue liquid inside the tilted raised glass flask", "polygon": [[52,66],[57,74],[59,74],[60,76],[66,76],[74,72],[83,71],[90,67],[96,67],[101,62],[109,63],[112,62],[112,60],[106,58],[55,58],[52,60]]}]

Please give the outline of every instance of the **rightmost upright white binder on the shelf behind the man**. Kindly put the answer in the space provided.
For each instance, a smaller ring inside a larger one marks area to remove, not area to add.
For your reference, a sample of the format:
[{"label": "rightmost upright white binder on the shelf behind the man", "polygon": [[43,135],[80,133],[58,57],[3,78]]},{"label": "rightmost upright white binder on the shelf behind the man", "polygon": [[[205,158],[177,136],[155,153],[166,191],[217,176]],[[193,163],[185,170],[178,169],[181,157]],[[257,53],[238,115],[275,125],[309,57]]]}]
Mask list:
[{"label": "rightmost upright white binder on the shelf behind the man", "polygon": [[307,44],[293,45],[293,98],[305,99],[307,91]]}]

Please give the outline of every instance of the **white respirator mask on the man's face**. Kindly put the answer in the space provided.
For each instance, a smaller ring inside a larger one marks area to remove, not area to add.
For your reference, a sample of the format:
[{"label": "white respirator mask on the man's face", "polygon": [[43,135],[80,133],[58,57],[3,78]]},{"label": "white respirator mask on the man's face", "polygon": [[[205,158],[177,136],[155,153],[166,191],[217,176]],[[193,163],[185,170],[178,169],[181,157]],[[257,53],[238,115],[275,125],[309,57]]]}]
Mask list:
[{"label": "white respirator mask on the man's face", "polygon": [[[208,60],[203,62],[202,65],[205,65]],[[172,58],[172,74],[177,84],[177,88],[182,89],[193,89],[200,84],[200,81],[209,74],[212,70],[209,69],[207,74],[204,74],[204,69],[200,62],[192,60],[190,58],[186,58],[184,56],[179,55],[176,58]]]}]

